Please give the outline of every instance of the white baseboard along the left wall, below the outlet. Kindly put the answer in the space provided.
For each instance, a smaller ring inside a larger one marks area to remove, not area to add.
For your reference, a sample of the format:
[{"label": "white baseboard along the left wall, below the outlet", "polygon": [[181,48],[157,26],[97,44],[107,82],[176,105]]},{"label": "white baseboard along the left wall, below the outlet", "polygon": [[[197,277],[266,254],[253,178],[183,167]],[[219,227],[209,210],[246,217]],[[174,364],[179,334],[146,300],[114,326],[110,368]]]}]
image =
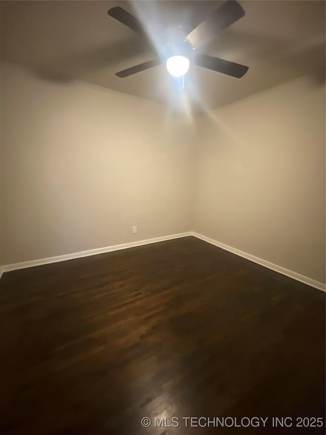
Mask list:
[{"label": "white baseboard along the left wall, below the outlet", "polygon": [[181,237],[191,236],[192,233],[172,234],[171,236],[155,237],[154,239],[140,240],[138,242],[123,243],[122,245],[105,246],[103,248],[90,249],[88,251],[74,252],[71,254],[57,255],[57,257],[48,257],[40,260],[24,261],[22,263],[5,264],[0,268],[0,278],[4,272],[11,270],[26,269],[28,267],[41,266],[43,264],[58,263],[60,261],[73,260],[76,258],[90,257],[105,252],[118,251],[120,249],[132,248],[134,246],[148,245],[150,243],[164,242],[165,240],[179,239]]}]

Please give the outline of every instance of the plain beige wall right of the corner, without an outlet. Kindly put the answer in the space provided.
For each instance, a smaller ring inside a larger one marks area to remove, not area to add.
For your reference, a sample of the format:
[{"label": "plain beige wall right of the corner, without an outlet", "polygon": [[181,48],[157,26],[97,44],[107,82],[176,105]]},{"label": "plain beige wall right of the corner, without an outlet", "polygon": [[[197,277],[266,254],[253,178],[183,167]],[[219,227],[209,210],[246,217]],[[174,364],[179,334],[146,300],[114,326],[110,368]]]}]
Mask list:
[{"label": "plain beige wall right of the corner, without an outlet", "polygon": [[325,282],[325,87],[302,78],[202,117],[195,232]]}]

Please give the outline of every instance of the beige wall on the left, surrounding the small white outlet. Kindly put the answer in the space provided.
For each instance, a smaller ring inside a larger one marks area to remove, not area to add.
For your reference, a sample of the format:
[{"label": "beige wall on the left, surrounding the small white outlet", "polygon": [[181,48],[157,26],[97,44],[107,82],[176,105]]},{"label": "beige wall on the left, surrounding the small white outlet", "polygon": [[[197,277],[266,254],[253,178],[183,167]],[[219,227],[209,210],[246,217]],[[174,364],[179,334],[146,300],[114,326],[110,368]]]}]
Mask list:
[{"label": "beige wall on the left, surrounding the small white outlet", "polygon": [[1,101],[2,264],[191,230],[189,131],[167,109],[9,64]]}]

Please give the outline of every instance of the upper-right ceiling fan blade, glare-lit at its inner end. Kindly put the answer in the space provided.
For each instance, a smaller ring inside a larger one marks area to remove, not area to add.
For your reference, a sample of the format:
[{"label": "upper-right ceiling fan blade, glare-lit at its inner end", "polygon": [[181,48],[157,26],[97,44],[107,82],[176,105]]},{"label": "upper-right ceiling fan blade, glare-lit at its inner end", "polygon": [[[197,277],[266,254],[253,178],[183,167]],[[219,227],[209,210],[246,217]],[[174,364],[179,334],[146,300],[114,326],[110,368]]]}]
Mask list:
[{"label": "upper-right ceiling fan blade, glare-lit at its inner end", "polygon": [[186,40],[197,48],[243,17],[243,15],[244,10],[235,0],[227,0],[205,21],[198,24],[196,29],[186,36]]}]

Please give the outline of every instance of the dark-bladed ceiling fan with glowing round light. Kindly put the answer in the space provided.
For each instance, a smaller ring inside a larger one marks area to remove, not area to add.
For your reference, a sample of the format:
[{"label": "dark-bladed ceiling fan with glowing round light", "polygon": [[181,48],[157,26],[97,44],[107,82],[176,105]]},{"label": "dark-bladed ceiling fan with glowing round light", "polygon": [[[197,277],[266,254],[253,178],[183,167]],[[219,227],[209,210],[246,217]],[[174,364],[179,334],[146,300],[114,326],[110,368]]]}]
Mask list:
[{"label": "dark-bladed ceiling fan with glowing round light", "polygon": [[[134,32],[146,36],[145,27],[141,21],[119,6],[109,9],[107,14]],[[227,0],[187,35],[178,36],[173,41],[167,40],[164,50],[160,50],[162,53],[159,53],[157,58],[119,71],[116,75],[125,78],[165,62],[169,73],[175,77],[184,75],[189,65],[194,63],[197,66],[240,79],[248,71],[248,66],[202,54],[199,48],[243,16],[242,7],[235,0]]]}]

